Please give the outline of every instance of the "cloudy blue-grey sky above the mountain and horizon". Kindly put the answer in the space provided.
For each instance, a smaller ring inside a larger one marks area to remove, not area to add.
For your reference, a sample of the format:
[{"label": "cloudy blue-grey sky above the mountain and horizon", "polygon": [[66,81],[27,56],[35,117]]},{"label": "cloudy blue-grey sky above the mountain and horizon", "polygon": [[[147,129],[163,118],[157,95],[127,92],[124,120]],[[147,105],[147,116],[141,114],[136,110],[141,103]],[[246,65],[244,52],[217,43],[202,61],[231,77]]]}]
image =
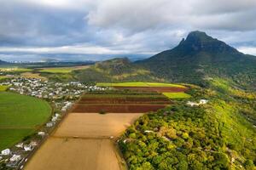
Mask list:
[{"label": "cloudy blue-grey sky above the mountain and horizon", "polygon": [[0,59],[143,59],[206,31],[256,55],[256,0],[0,0]]}]

